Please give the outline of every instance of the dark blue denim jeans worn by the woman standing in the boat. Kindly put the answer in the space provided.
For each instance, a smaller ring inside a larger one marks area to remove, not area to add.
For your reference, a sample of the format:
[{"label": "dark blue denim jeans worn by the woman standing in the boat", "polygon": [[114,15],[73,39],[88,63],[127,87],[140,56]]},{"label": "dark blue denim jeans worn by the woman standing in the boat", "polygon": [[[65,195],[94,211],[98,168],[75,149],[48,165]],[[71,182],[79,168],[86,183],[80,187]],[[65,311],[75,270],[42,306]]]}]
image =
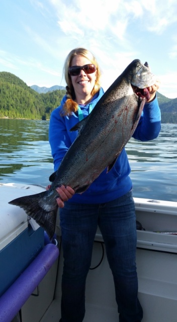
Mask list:
[{"label": "dark blue denim jeans worn by the woman standing in the boat", "polygon": [[136,218],[132,192],[102,204],[66,202],[60,209],[60,225],[64,256],[62,322],[83,321],[85,281],[98,225],[114,278],[119,321],[140,322],[143,312],[137,298]]}]

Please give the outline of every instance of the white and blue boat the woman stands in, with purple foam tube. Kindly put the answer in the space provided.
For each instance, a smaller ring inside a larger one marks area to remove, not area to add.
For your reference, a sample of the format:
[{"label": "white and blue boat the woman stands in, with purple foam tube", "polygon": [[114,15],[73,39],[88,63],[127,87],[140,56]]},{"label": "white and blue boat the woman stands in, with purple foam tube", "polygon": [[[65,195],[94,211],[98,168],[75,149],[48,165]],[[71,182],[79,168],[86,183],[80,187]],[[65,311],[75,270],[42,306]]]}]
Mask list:
[{"label": "white and blue boat the woman stands in, with purple foam tube", "polygon": [[[23,209],[8,201],[44,187],[0,184],[0,321],[58,322],[62,236],[57,216],[50,241]],[[137,222],[138,297],[142,322],[177,320],[177,202],[134,198]],[[84,322],[117,322],[112,273],[98,228],[86,281]]]}]

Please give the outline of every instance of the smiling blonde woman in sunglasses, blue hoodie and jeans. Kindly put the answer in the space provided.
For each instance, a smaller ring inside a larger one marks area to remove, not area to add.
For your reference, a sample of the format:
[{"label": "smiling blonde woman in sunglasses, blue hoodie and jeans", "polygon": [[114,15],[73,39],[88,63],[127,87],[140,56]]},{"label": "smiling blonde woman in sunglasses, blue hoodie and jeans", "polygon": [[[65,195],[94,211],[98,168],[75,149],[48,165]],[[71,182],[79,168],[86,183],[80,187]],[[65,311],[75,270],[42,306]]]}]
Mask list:
[{"label": "smiling blonde woman in sunglasses, blue hoodie and jeans", "polygon": [[[69,132],[70,128],[86,117],[104,94],[98,62],[84,48],[73,49],[68,54],[64,75],[66,96],[51,113],[49,126],[55,171],[77,136],[77,131]],[[133,134],[136,139],[147,141],[158,136],[160,110],[157,89],[157,84],[148,88],[150,99]],[[130,166],[124,148],[113,169],[108,174],[105,170],[81,195],[74,194],[71,187],[57,188],[64,256],[62,322],[83,321],[85,281],[98,225],[114,277],[119,321],[142,320],[142,307],[137,298],[135,206],[129,174]]]}]

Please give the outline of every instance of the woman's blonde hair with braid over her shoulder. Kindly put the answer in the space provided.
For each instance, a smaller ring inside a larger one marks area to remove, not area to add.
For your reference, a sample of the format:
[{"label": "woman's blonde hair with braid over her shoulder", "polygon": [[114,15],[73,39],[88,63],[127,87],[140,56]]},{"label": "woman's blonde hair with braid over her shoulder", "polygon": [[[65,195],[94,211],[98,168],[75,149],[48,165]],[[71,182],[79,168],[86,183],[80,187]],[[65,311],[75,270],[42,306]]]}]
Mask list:
[{"label": "woman's blonde hair with braid over her shoulder", "polygon": [[74,101],[75,100],[75,93],[74,93],[74,88],[71,82],[71,76],[68,73],[68,69],[71,66],[72,63],[72,59],[76,56],[83,56],[85,58],[87,58],[88,60],[91,61],[92,64],[94,64],[97,68],[97,79],[94,85],[94,88],[91,92],[91,94],[94,96],[101,88],[101,84],[100,84],[100,78],[101,78],[101,70],[99,67],[99,64],[97,62],[96,57],[87,49],[85,48],[75,48],[73,50],[70,51],[70,53],[67,55],[64,66],[63,66],[63,74],[65,77],[65,81],[66,81],[66,102],[63,105],[63,109],[61,114],[67,115],[67,114],[71,114],[72,112],[76,112],[78,110],[78,104]]}]

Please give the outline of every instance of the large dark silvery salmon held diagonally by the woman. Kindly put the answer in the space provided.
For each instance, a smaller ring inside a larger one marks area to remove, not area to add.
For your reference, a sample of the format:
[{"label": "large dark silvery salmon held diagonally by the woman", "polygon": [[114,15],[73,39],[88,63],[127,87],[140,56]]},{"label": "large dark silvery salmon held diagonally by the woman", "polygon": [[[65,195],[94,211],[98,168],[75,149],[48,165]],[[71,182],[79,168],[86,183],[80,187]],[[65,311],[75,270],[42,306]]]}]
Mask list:
[{"label": "large dark silvery salmon held diagonally by the woman", "polygon": [[154,83],[155,76],[148,64],[133,60],[92,113],[71,129],[79,130],[79,134],[58,170],[50,176],[51,188],[36,195],[17,198],[10,204],[23,208],[52,238],[58,208],[56,188],[70,186],[75,193],[82,193],[105,168],[107,171],[112,169],[136,129],[145,100],[149,97],[146,88]]}]

